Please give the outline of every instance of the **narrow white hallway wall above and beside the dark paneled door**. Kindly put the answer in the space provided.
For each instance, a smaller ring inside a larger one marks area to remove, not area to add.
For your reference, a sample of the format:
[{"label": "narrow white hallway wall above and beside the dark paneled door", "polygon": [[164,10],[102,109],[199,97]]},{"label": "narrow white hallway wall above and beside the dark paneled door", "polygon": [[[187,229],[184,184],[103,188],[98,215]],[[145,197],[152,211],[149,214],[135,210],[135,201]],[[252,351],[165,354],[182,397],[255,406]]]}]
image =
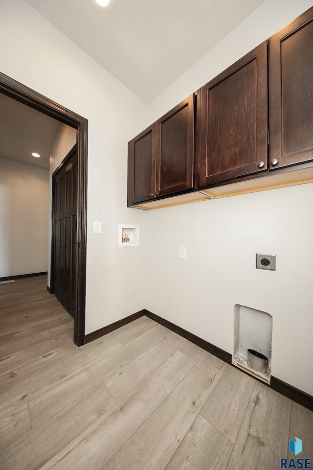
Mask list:
[{"label": "narrow white hallway wall above and beside the dark paneled door", "polygon": [[[76,143],[76,130],[72,127],[62,124],[55,136],[50,151],[50,170],[49,170],[49,214],[52,212],[52,175],[68,152]],[[51,279],[51,216],[49,217],[49,235],[48,235],[48,280],[50,287]]]}]

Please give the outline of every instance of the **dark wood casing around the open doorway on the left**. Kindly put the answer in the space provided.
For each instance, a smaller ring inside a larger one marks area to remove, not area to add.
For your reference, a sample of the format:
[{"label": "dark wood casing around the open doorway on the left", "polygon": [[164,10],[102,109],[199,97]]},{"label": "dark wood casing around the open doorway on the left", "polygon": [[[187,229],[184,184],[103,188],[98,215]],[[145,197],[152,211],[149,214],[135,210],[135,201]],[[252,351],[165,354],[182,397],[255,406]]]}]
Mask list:
[{"label": "dark wood casing around the open doorway on the left", "polygon": [[88,120],[0,72],[0,93],[77,130],[77,271],[74,343],[85,344]]}]

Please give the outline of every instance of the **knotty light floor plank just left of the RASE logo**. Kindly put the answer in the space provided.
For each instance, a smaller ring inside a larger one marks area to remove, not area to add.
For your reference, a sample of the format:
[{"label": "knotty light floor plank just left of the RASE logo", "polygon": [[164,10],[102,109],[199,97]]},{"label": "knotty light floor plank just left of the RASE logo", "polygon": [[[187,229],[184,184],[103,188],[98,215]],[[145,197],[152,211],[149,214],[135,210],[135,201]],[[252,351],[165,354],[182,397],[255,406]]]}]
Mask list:
[{"label": "knotty light floor plank just left of the RASE logo", "polygon": [[227,470],[280,468],[288,448],[291,400],[255,382]]}]

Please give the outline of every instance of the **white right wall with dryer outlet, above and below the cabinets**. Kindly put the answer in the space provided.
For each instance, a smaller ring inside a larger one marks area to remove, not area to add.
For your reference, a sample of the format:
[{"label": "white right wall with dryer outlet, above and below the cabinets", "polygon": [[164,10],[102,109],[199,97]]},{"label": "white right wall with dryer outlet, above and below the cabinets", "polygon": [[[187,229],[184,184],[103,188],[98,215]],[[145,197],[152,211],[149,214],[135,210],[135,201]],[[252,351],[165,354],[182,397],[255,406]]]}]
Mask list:
[{"label": "white right wall with dryer outlet, above and below the cabinets", "polygon": [[[156,98],[147,124],[311,6],[265,2]],[[312,214],[313,184],[147,212],[145,307],[231,353],[234,305],[270,313],[272,375],[313,395]],[[276,272],[256,270],[256,252],[276,254]]]}]

